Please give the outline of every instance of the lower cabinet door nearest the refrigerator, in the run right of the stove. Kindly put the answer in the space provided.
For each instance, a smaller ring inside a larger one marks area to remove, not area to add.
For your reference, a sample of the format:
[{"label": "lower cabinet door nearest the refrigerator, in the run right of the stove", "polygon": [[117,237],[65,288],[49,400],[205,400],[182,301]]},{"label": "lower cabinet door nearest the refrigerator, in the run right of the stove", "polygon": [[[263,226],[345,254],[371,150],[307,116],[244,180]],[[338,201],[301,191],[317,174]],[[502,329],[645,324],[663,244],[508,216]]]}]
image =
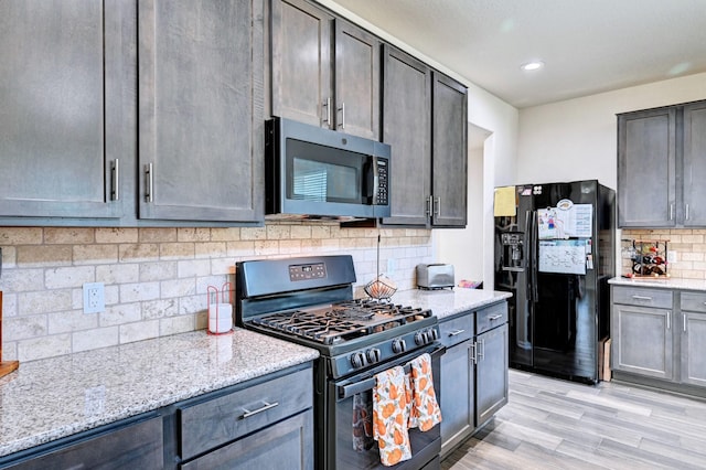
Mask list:
[{"label": "lower cabinet door nearest the refrigerator, in the run right of the stove", "polygon": [[507,324],[475,340],[475,425],[483,426],[507,403]]}]

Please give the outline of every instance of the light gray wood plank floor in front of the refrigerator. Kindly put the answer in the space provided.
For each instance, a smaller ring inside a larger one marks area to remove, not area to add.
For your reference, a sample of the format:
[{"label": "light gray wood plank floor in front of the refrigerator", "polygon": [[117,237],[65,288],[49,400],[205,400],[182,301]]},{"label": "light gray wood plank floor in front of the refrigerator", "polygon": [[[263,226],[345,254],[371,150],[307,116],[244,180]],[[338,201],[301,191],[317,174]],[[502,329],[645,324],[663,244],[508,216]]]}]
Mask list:
[{"label": "light gray wood plank floor in front of the refrigerator", "polygon": [[706,402],[511,370],[510,403],[441,468],[706,469]]}]

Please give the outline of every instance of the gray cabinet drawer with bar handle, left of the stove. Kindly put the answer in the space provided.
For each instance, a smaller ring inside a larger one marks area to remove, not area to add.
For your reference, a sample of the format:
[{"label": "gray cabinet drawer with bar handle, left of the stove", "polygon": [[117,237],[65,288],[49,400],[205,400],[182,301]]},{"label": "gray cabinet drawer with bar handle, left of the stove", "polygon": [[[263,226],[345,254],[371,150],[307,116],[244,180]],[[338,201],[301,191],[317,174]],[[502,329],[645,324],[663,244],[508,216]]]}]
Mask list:
[{"label": "gray cabinet drawer with bar handle, left of the stove", "polygon": [[311,368],[179,409],[181,458],[229,442],[311,408]]}]

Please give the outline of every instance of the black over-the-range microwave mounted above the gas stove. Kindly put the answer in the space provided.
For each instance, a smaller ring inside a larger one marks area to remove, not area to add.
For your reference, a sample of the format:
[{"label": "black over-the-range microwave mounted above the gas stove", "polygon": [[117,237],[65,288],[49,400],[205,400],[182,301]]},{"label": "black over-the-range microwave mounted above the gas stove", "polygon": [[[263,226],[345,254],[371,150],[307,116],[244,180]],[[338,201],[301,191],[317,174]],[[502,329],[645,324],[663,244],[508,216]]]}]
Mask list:
[{"label": "black over-the-range microwave mounted above the gas stove", "polygon": [[285,118],[265,132],[267,218],[389,216],[388,145]]}]

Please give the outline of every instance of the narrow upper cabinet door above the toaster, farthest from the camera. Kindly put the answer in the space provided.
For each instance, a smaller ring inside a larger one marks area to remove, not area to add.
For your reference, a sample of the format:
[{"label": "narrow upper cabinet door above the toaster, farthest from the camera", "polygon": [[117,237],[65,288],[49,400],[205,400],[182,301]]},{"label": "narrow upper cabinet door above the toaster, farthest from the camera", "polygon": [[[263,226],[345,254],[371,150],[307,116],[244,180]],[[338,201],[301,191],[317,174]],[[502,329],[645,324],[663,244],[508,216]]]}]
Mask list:
[{"label": "narrow upper cabinet door above the toaster, farthest from the camera", "polygon": [[464,227],[468,218],[468,92],[434,73],[431,225]]}]

